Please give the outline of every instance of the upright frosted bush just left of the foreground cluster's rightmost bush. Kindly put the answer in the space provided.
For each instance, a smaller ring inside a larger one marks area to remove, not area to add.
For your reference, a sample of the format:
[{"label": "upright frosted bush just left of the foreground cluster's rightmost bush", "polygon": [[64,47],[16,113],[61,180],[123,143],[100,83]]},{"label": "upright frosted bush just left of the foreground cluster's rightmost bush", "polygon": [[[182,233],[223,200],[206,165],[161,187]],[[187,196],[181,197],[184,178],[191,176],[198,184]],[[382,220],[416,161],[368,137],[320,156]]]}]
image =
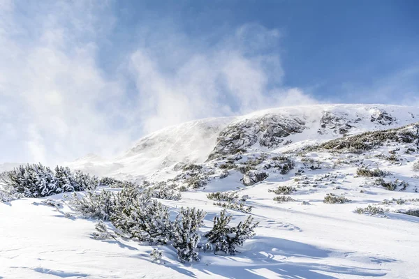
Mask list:
[{"label": "upright frosted bush just left of the foreground cluster's rightmost bush", "polygon": [[173,247],[180,262],[199,261],[196,250],[200,241],[198,229],[203,225],[206,213],[198,209],[180,209],[173,223]]}]

